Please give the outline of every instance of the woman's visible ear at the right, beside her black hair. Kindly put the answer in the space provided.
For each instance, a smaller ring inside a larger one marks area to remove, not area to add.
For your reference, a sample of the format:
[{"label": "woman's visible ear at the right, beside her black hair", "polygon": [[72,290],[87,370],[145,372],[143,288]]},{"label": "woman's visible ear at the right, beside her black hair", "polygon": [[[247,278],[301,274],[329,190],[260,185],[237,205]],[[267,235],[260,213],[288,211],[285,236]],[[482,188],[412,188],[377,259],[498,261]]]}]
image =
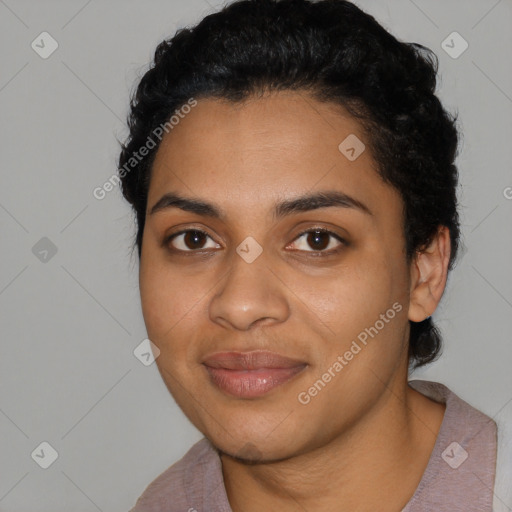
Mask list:
[{"label": "woman's visible ear at the right, beside her black hair", "polygon": [[450,261],[450,231],[440,226],[430,245],[411,263],[409,320],[421,322],[434,313],[443,296]]}]

